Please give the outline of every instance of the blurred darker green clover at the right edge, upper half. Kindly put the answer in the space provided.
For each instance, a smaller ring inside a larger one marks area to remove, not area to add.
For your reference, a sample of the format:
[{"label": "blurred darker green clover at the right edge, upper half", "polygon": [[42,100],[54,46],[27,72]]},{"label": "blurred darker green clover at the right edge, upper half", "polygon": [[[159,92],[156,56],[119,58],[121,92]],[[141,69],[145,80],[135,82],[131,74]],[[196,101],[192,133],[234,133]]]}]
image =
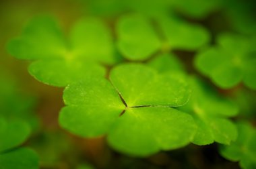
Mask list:
[{"label": "blurred darker green clover at the right edge, upper half", "polygon": [[256,50],[249,38],[223,34],[218,46],[203,50],[195,59],[196,68],[223,89],[239,82],[256,89]]}]

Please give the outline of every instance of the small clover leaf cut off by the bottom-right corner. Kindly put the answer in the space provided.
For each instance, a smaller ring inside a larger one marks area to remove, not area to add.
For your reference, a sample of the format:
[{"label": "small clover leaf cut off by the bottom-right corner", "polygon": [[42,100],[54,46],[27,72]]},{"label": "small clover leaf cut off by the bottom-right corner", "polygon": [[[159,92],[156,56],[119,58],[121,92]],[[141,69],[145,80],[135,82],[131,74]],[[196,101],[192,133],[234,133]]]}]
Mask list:
[{"label": "small clover leaf cut off by the bottom-right corner", "polygon": [[238,138],[230,146],[221,146],[220,154],[228,160],[238,162],[241,168],[256,167],[256,130],[247,122],[239,122]]}]

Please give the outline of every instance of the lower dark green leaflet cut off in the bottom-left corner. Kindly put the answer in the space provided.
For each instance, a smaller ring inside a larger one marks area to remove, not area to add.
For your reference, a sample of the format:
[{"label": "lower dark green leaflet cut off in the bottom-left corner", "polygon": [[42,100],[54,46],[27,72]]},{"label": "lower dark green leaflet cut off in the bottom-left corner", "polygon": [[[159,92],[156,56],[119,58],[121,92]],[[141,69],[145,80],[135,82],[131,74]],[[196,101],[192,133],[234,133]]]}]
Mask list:
[{"label": "lower dark green leaflet cut off in the bottom-left corner", "polygon": [[36,169],[39,160],[36,153],[28,148],[19,148],[0,154],[1,169]]}]

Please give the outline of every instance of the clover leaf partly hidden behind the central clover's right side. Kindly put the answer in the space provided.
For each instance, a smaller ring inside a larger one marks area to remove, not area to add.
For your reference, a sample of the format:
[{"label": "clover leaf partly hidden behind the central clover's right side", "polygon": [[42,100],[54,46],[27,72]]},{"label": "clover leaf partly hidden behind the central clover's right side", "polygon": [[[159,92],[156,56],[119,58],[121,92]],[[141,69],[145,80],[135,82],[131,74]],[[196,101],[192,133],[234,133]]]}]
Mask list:
[{"label": "clover leaf partly hidden behind the central clover's right side", "polygon": [[192,95],[189,103],[180,107],[182,111],[193,115],[198,129],[193,143],[206,145],[213,142],[230,144],[237,136],[236,127],[227,119],[238,113],[238,107],[216,91],[207,86],[199,78],[191,77],[189,80]]}]

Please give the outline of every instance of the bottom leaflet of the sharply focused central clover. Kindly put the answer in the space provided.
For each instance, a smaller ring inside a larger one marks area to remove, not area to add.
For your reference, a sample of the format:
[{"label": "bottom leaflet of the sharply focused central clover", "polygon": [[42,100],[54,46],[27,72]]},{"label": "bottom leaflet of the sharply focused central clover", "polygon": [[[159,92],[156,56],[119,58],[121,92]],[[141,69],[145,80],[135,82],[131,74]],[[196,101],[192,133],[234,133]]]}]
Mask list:
[{"label": "bottom leaflet of the sharply focused central clover", "polygon": [[127,109],[111,128],[108,142],[126,154],[148,156],[187,145],[195,129],[190,115],[170,107]]}]

